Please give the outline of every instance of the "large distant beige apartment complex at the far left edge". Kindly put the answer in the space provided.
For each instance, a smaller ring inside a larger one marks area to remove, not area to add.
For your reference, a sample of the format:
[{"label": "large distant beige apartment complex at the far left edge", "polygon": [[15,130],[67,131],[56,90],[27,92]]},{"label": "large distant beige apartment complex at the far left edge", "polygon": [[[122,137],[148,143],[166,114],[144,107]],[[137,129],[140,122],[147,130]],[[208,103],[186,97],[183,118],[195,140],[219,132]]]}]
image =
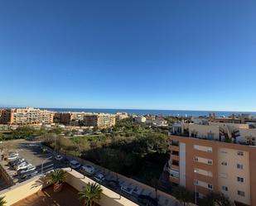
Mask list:
[{"label": "large distant beige apartment complex at the far left edge", "polygon": [[53,122],[53,113],[39,108],[4,109],[1,123],[13,125],[49,124]]}]

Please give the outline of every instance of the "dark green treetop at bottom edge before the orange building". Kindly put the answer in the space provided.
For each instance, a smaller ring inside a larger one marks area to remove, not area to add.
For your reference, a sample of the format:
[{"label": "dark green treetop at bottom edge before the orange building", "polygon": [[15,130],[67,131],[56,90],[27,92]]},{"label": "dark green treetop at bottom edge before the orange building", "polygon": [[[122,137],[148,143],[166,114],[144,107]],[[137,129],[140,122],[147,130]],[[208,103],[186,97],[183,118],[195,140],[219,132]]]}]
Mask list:
[{"label": "dark green treetop at bottom edge before the orange building", "polygon": [[202,205],[207,206],[232,206],[232,202],[225,194],[222,193],[210,193],[202,199]]}]

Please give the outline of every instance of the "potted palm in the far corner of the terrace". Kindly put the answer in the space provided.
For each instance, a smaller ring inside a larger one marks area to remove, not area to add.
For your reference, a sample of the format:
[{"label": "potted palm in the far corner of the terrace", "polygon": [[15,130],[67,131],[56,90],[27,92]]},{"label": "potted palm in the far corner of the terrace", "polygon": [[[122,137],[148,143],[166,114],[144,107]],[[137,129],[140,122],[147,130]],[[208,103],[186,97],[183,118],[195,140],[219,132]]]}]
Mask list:
[{"label": "potted palm in the far corner of the terrace", "polygon": [[66,171],[65,170],[53,170],[49,175],[46,175],[46,183],[53,184],[53,191],[60,192],[65,181]]}]

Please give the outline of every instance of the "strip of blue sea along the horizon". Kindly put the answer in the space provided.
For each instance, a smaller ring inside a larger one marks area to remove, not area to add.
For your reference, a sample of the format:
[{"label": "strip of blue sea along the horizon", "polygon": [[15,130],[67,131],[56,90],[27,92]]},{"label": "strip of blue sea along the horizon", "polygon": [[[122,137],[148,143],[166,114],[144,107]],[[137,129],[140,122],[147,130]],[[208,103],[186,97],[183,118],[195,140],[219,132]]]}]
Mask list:
[{"label": "strip of blue sea along the horizon", "polygon": [[155,110],[155,109],[115,109],[115,108],[41,108],[54,112],[85,112],[85,113],[129,113],[137,115],[162,115],[176,117],[200,117],[215,113],[218,117],[229,117],[232,114],[251,114],[256,116],[256,112],[232,112],[232,111],[196,111],[196,110]]}]

